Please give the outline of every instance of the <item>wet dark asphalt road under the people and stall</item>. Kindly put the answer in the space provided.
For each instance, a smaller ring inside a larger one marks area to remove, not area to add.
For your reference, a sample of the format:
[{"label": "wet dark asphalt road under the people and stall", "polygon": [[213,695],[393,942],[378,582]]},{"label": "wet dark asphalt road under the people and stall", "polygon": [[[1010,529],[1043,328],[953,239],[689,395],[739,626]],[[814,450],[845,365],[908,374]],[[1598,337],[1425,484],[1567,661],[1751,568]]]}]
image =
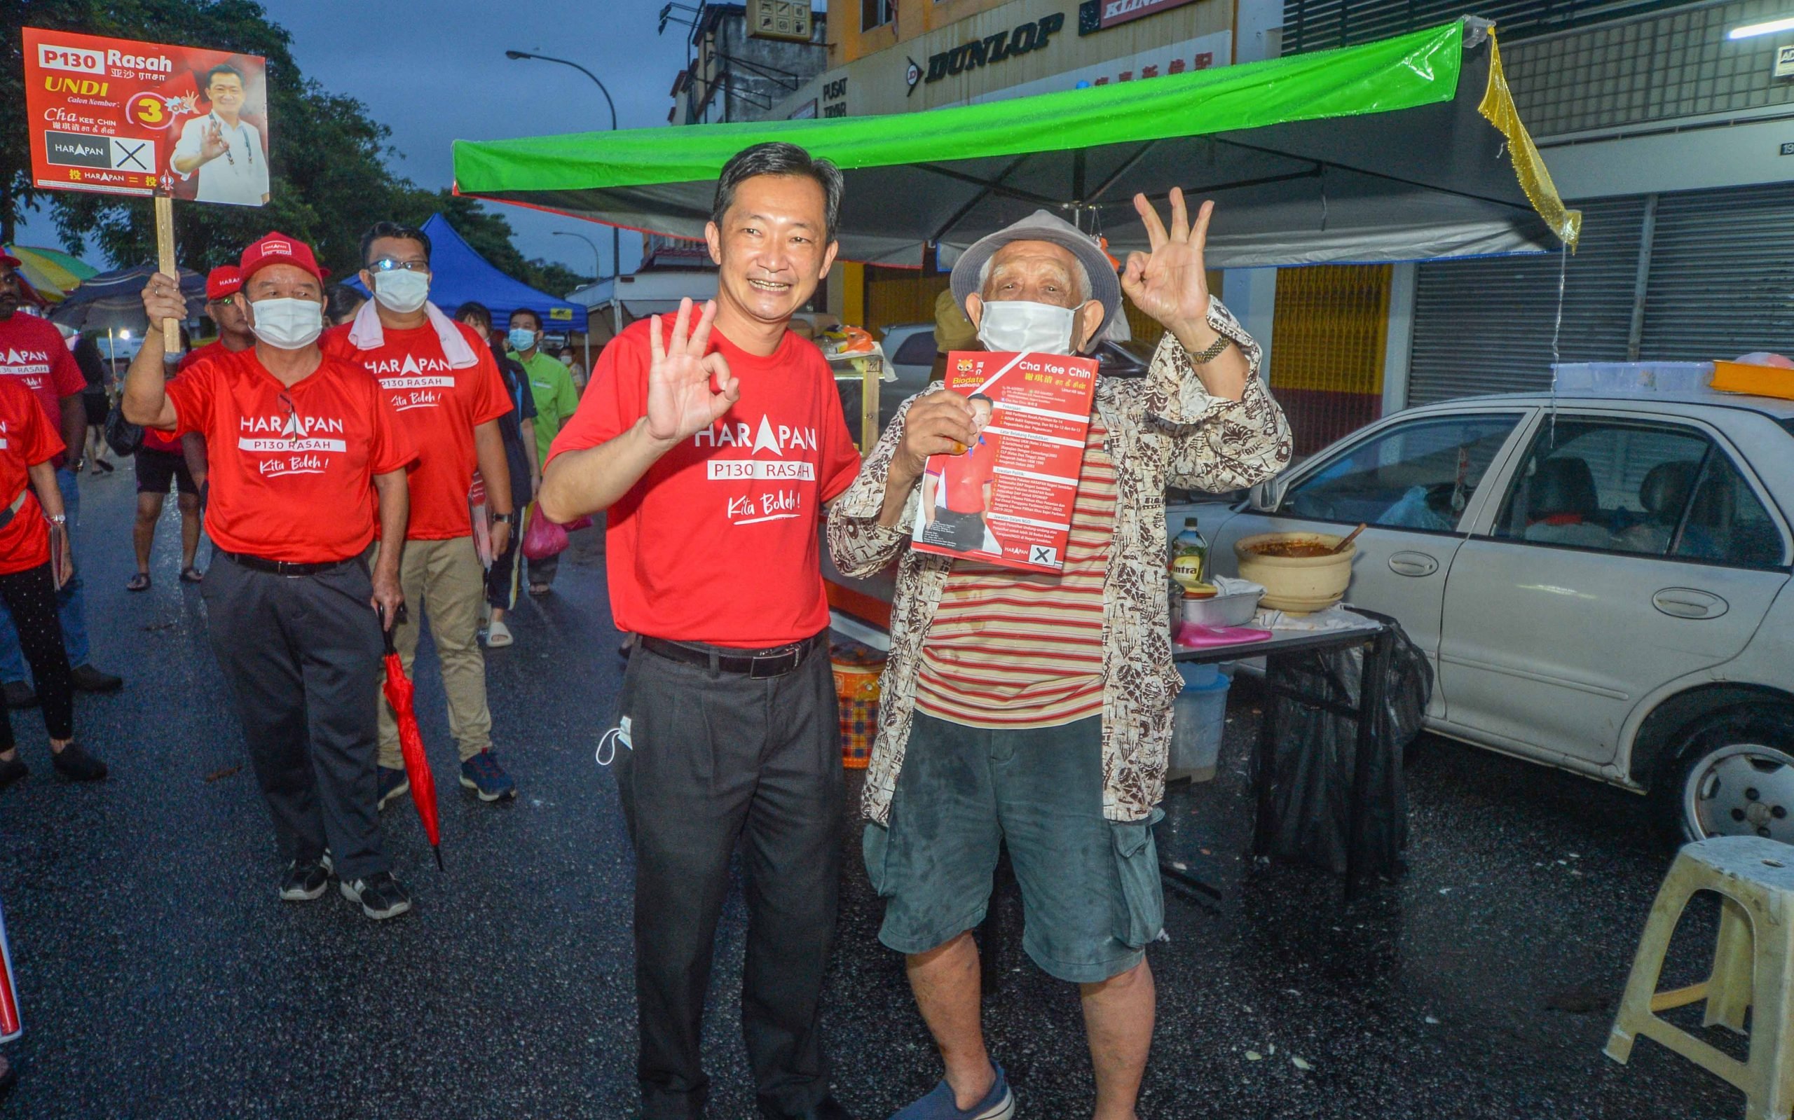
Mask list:
[{"label": "wet dark asphalt road under the people and stall", "polygon": [[[515,615],[517,645],[488,656],[518,801],[488,806],[456,788],[440,679],[420,658],[447,873],[409,806],[388,810],[418,909],[377,926],[334,892],[274,900],[273,840],[205,611],[176,581],[174,504],[154,588],[127,595],[129,470],[83,489],[75,545],[95,663],[127,685],[77,706],[83,742],[113,769],[102,787],[54,780],[41,720],[14,713],[34,774],[0,794],[0,900],[27,1034],[5,1050],[22,1082],[0,1115],[633,1115],[631,860],[615,787],[592,762],[621,679],[596,534],[576,536],[556,593]],[[1640,799],[1423,740],[1412,871],[1347,909],[1319,873],[1238,855],[1256,704],[1238,685],[1220,780],[1166,805],[1163,851],[1225,898],[1168,898],[1141,1116],[1742,1115],[1738,1093],[1652,1043],[1624,1068],[1600,1054],[1667,866]],[[834,1082],[858,1116],[883,1118],[938,1068],[901,961],[875,941],[856,824],[843,821],[841,842]],[[1019,921],[1019,900],[997,909]],[[753,1115],[734,1009],[743,921],[737,894],[707,1025],[714,1118]],[[1685,923],[1667,984],[1699,978],[1710,921]],[[999,968],[987,1029],[1019,1115],[1087,1116],[1075,991],[1014,943]]]}]

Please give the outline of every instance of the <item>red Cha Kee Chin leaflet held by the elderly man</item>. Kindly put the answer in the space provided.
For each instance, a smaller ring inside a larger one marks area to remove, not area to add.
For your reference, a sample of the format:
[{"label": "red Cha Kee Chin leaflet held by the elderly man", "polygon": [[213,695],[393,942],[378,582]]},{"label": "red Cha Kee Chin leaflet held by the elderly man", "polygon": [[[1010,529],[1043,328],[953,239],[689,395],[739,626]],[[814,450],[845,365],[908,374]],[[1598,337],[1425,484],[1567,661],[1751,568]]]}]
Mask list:
[{"label": "red Cha Kee Chin leaflet held by the elderly man", "polygon": [[940,556],[1060,572],[1078,500],[1096,362],[1048,353],[947,355],[947,389],[971,398],[978,443],[931,455],[911,538]]}]

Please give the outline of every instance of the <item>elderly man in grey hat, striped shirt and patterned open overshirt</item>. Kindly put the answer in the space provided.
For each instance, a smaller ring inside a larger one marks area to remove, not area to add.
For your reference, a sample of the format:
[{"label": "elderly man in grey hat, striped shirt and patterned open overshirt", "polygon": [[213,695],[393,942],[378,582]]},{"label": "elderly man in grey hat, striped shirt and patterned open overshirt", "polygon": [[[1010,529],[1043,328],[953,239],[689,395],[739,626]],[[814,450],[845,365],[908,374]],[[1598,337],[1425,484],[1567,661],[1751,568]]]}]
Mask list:
[{"label": "elderly man in grey hat, striped shirt and patterned open overshirt", "polygon": [[1023,892],[1023,948],[1078,984],[1094,1116],[1130,1120],[1152,1043],[1145,948],[1161,930],[1152,824],[1163,815],[1171,699],[1166,487],[1225,491],[1290,461],[1259,348],[1209,294],[1211,204],[1166,229],[1134,199],[1152,253],[1118,283],[1102,247],[1042,211],[974,244],[953,292],[990,351],[1084,353],[1123,290],[1164,326],[1150,373],[1102,378],[1058,575],[906,548],[924,464],[974,443],[967,398],[931,385],[904,403],[829,513],[849,575],[901,557],[879,735],[865,785],[867,871],[886,900],[879,939],[910,986],[945,1077],[897,1120],[1015,1113],[985,1050],[980,964],[999,844]]}]

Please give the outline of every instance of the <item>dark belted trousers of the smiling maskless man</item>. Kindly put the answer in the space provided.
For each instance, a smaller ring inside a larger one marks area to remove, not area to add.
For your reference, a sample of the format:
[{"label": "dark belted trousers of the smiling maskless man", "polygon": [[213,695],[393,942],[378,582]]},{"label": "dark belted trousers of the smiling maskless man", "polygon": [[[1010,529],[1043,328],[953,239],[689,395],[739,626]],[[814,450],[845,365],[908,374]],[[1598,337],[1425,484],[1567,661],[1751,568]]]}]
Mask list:
[{"label": "dark belted trousers of the smiling maskless man", "polygon": [[741,1034],[764,1113],[829,1093],[816,1011],[841,876],[841,747],[827,645],[771,679],[637,647],[617,790],[635,844],[644,1120],[703,1115],[698,1045],[728,858],[748,903]]}]

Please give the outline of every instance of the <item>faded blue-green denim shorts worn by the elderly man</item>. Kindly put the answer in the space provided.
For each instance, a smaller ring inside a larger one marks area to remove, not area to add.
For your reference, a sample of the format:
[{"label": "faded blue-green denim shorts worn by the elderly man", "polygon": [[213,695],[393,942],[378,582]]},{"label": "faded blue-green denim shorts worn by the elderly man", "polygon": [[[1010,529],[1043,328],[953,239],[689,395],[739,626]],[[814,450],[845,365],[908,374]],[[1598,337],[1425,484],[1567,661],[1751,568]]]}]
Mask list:
[{"label": "faded blue-green denim shorts worn by the elderly man", "polygon": [[1118,977],[1164,926],[1163,815],[1103,817],[1102,717],[997,731],[917,713],[890,826],[865,833],[879,941],[922,953],[981,923],[1008,844],[1028,957],[1075,984]]}]

